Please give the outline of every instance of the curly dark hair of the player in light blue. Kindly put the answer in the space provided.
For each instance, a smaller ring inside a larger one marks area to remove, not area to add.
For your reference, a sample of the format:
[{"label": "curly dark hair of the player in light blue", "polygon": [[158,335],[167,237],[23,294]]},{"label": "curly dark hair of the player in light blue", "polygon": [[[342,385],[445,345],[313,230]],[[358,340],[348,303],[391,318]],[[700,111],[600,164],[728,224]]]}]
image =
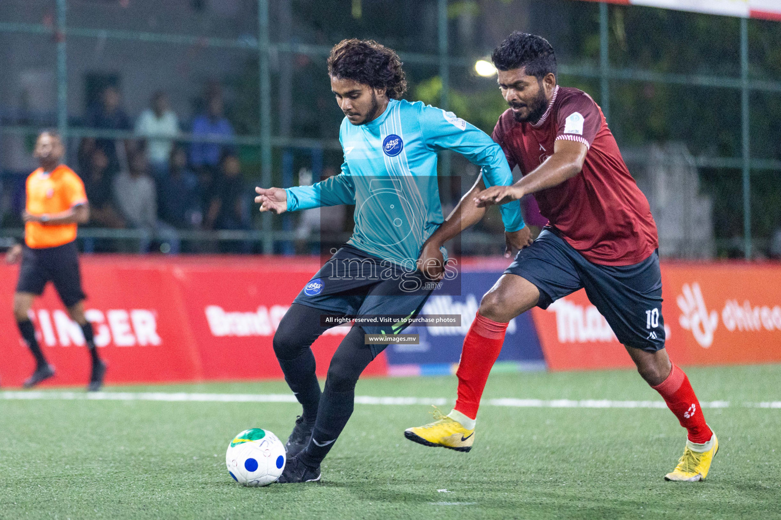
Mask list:
[{"label": "curly dark hair of the player in light blue", "polygon": [[330,76],[354,80],[373,88],[384,88],[387,97],[401,99],[407,79],[396,51],[373,40],[342,40],[328,57]]}]

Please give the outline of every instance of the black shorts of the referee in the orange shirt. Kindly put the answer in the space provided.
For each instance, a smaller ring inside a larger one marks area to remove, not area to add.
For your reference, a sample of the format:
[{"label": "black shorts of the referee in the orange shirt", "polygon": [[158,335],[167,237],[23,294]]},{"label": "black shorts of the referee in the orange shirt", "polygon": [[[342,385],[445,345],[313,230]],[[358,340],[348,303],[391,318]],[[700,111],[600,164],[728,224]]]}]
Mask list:
[{"label": "black shorts of the referee in the orange shirt", "polygon": [[81,290],[79,253],[76,241],[56,247],[33,248],[23,245],[22,266],[16,292],[41,295],[52,281],[66,307],[76,305],[87,295]]}]

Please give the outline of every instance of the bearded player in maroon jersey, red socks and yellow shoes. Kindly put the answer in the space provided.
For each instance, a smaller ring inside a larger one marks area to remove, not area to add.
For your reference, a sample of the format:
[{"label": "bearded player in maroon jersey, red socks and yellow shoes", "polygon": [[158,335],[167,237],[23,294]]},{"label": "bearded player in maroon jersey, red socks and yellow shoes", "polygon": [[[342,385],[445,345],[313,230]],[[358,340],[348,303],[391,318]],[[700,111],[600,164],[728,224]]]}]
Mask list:
[{"label": "bearded player in maroon jersey, red socks and yellow shoes", "polygon": [[648,201],[629,174],[599,106],[582,90],[556,83],[551,44],[515,32],[491,58],[510,105],[493,137],[510,167],[517,164],[523,177],[512,186],[492,186],[462,200],[460,221],[446,221],[430,240],[444,243],[480,218],[487,205],[530,193],[549,224],[483,296],[464,340],[455,409],[448,416],[435,413],[437,421],[410,428],[405,437],[469,451],[483,387],[508,322],[533,306],[546,309],[585,288],[640,376],[688,431],[683,456],[665,479],[705,479],[719,441],[705,423],[686,374],[665,350],[658,234]]}]

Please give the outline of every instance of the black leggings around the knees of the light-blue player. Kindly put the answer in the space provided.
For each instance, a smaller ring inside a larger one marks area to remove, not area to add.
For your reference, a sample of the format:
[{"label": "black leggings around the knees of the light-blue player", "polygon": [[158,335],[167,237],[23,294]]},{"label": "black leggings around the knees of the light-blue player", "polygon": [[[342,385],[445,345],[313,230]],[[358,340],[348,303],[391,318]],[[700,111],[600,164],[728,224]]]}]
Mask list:
[{"label": "black leggings around the knees of the light-blue player", "polygon": [[[299,303],[291,305],[274,334],[274,353],[281,364],[311,352],[312,343],[330,328],[320,325],[320,315],[324,313],[335,314]],[[364,334],[362,327],[354,326],[341,341],[328,367],[326,389],[337,392],[355,390],[358,377],[374,359],[371,346],[363,342]]]}]

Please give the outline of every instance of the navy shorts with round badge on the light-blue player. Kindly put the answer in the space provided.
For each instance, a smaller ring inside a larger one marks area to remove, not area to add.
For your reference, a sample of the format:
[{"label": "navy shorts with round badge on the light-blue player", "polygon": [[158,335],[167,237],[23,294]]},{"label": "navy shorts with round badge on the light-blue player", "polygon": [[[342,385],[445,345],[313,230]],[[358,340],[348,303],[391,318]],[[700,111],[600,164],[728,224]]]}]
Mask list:
[{"label": "navy shorts with round badge on the light-blue player", "polygon": [[[415,317],[437,287],[420,271],[408,271],[345,244],[301,289],[294,303],[334,315],[397,315]],[[387,325],[361,325],[366,334],[399,334],[403,320]],[[387,345],[371,345],[374,356]]]}]

